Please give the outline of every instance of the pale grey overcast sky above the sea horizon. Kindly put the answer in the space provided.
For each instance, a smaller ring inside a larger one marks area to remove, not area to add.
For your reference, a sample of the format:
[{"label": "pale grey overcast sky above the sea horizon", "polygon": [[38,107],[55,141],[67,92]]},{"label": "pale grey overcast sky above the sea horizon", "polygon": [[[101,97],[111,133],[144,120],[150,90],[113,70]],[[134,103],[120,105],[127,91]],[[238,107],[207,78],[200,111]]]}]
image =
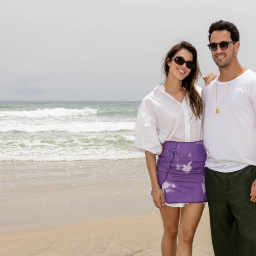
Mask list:
[{"label": "pale grey overcast sky above the sea horizon", "polygon": [[196,47],[203,75],[218,72],[207,36],[220,19],[256,72],[255,12],[252,0],[2,0],[0,100],[140,101],[179,41]]}]

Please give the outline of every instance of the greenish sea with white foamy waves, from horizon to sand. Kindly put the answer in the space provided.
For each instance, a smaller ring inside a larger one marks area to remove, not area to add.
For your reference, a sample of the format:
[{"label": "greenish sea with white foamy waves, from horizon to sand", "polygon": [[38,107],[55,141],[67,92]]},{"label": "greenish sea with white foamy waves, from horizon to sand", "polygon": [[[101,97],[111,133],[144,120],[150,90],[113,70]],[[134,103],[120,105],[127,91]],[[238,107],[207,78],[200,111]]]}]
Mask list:
[{"label": "greenish sea with white foamy waves, from horizon to sand", "polygon": [[143,158],[133,147],[139,104],[1,101],[0,161]]}]

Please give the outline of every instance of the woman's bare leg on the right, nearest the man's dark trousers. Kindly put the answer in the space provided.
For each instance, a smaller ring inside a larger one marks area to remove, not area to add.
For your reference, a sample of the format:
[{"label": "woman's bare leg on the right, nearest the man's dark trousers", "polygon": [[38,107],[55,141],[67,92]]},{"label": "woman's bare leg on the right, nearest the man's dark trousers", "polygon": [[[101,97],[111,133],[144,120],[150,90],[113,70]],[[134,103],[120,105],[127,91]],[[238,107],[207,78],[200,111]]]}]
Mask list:
[{"label": "woman's bare leg on the right, nearest the man's dark trousers", "polygon": [[203,203],[188,203],[182,207],[176,256],[192,256],[192,243],[203,208]]}]

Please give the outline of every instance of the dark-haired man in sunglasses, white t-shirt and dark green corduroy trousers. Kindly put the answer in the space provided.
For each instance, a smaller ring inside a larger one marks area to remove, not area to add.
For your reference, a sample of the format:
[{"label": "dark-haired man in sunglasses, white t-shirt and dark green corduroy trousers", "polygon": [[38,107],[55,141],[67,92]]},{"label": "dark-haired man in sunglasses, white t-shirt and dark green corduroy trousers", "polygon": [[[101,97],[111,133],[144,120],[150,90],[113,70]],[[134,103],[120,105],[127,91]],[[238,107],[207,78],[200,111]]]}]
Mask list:
[{"label": "dark-haired man in sunglasses, white t-shirt and dark green corduroy trousers", "polygon": [[237,27],[209,28],[220,75],[202,90],[205,184],[215,256],[256,256],[256,73],[241,66]]}]

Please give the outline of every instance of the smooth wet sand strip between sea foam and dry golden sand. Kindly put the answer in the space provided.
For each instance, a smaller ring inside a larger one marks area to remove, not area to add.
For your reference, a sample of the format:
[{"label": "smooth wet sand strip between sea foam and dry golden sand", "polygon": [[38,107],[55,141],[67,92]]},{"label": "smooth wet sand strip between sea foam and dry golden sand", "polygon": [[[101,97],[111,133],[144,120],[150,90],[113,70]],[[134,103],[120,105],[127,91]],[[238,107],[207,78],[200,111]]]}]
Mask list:
[{"label": "smooth wet sand strip between sea foam and dry golden sand", "polygon": [[0,233],[157,213],[143,160],[1,162]]}]

